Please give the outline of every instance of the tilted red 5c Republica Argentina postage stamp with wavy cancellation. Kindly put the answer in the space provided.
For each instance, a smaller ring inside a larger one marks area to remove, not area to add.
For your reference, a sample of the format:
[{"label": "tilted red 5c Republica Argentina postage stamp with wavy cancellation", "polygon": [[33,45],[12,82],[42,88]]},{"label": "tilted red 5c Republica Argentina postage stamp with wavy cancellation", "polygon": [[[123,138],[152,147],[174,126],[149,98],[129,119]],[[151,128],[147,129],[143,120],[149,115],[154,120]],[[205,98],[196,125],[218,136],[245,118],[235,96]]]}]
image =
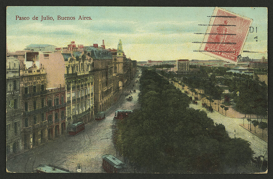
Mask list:
[{"label": "tilted red 5c Republica Argentina postage stamp with wavy cancellation", "polygon": [[212,57],[237,64],[252,19],[215,7],[200,51]]}]

